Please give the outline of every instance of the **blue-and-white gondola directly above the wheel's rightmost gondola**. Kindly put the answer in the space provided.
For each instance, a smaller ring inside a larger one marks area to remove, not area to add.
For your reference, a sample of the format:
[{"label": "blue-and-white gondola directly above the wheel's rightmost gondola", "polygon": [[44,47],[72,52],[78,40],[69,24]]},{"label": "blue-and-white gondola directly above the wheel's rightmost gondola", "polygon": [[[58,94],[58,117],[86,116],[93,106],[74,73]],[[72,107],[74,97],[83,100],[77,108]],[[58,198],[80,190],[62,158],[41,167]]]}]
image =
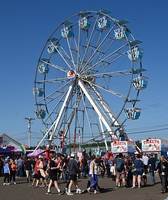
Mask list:
[{"label": "blue-and-white gondola directly above the wheel's rightmost gondola", "polygon": [[144,50],[139,47],[134,47],[133,49],[127,51],[128,58],[132,61],[142,60]]}]

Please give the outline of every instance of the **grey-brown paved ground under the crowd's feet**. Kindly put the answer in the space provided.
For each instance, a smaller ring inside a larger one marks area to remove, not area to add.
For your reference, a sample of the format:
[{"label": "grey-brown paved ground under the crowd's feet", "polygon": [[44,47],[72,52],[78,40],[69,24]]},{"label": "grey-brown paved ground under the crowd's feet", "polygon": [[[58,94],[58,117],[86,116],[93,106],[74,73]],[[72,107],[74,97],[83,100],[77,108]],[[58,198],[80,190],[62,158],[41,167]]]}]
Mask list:
[{"label": "grey-brown paved ground under the crowd's feet", "polygon": [[[115,183],[111,178],[99,178],[99,185],[104,187],[104,192],[100,194],[75,194],[73,196],[61,195],[58,196],[54,187],[52,187],[53,195],[46,195],[47,188],[29,187],[25,178],[17,179],[16,185],[3,186],[3,177],[0,177],[0,199],[4,200],[168,200],[168,193],[160,194],[160,183],[157,177],[157,184],[150,185],[150,180],[146,187],[141,189],[120,188],[114,189]],[[86,189],[87,179],[79,179],[81,189]],[[65,184],[59,181],[61,189]]]}]

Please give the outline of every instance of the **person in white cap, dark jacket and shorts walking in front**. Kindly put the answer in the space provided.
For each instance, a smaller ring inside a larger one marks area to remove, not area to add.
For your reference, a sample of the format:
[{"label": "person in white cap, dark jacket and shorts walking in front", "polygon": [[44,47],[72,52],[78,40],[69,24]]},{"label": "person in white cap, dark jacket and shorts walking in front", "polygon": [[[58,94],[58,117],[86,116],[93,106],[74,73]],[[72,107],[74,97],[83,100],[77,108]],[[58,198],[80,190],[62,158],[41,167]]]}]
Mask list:
[{"label": "person in white cap, dark jacket and shorts walking in front", "polygon": [[70,160],[68,162],[68,172],[69,172],[69,185],[67,195],[73,195],[74,193],[71,192],[72,185],[75,185],[76,193],[81,193],[81,189],[79,189],[77,183],[77,175],[79,174],[79,166],[75,160],[75,154],[71,154]]}]

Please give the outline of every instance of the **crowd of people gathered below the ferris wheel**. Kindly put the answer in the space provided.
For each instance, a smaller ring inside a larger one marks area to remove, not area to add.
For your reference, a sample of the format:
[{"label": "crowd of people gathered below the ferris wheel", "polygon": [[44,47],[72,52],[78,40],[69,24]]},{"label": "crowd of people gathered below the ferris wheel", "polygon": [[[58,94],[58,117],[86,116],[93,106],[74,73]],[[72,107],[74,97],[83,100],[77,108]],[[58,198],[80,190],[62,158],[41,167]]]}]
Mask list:
[{"label": "crowd of people gathered below the ferris wheel", "polygon": [[[54,185],[58,194],[73,195],[89,192],[97,194],[102,192],[98,184],[99,177],[111,177],[115,181],[115,188],[141,188],[146,184],[147,174],[151,183],[156,183],[155,175],[159,174],[161,193],[167,192],[168,187],[168,160],[160,156],[159,160],[151,155],[124,156],[122,153],[110,157],[100,157],[85,154],[77,157],[72,153],[52,154],[50,159],[39,155],[13,159],[9,156],[0,158],[0,175],[4,176],[3,185],[16,184],[16,178],[26,177],[32,187],[44,187],[46,194],[51,195],[51,187]],[[78,185],[79,178],[88,178],[86,190],[81,190]],[[66,183],[63,190],[60,189],[58,180]],[[73,186],[74,185],[74,186]]]}]

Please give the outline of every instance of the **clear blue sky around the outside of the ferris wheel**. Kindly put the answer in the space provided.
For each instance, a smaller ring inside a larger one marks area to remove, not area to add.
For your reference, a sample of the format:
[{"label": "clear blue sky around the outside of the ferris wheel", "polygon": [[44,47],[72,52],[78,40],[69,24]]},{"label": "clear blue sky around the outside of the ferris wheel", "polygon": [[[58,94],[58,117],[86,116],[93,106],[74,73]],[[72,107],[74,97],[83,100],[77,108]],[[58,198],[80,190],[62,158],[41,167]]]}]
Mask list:
[{"label": "clear blue sky around the outside of the ferris wheel", "polygon": [[[168,2],[135,0],[6,0],[0,3],[0,134],[27,144],[27,121],[35,117],[33,82],[37,60],[47,38],[62,21],[83,10],[108,9],[117,19],[126,19],[144,48],[143,68],[149,77],[140,94],[142,114],[128,121],[133,140],[167,138],[168,132]],[[32,144],[41,138],[44,126],[32,124]]]}]

